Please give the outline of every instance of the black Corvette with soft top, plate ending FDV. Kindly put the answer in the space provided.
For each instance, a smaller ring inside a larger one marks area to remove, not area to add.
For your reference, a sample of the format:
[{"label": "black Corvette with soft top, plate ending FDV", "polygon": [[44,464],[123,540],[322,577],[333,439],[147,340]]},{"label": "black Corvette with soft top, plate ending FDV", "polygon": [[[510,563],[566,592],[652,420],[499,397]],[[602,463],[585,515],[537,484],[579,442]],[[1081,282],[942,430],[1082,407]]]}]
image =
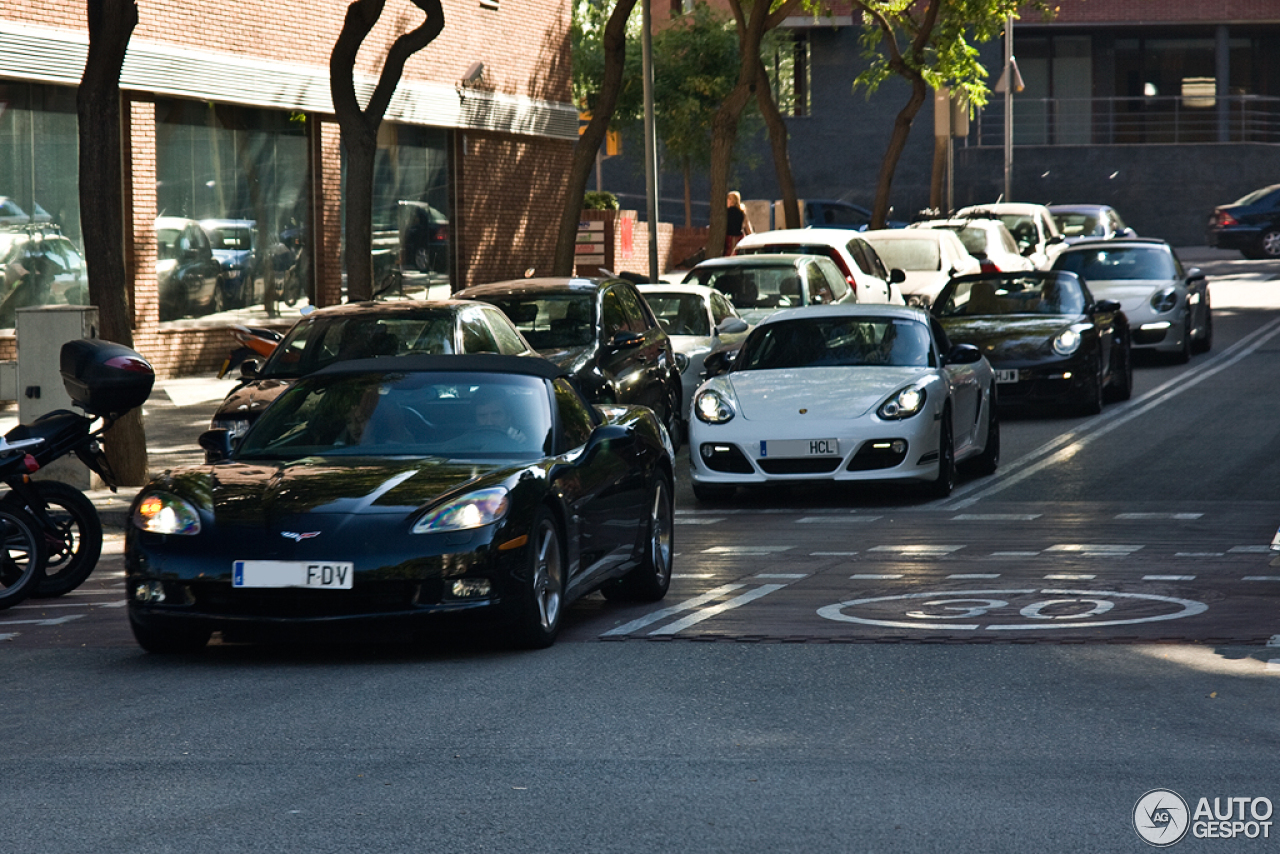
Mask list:
[{"label": "black Corvette with soft top, plate ending FDV", "polygon": [[573,599],[671,583],[666,430],[648,407],[593,407],[540,359],[334,364],[234,447],[216,429],[201,446],[212,462],[131,507],[129,624],[150,652],[483,618],[540,648]]}]

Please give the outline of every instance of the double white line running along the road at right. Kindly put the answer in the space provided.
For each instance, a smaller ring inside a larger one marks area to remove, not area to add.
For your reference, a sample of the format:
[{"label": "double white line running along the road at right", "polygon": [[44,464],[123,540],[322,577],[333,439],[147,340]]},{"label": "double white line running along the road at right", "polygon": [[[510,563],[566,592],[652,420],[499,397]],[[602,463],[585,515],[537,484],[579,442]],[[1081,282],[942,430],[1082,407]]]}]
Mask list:
[{"label": "double white line running along the road at right", "polygon": [[[1221,361],[1219,361],[1216,365],[1212,365],[1206,370],[1198,371],[1190,378],[1175,376],[1165,382],[1164,384],[1143,394],[1137,401],[1133,401],[1128,411],[1117,412],[1115,417],[1112,417],[1110,421],[1105,424],[1100,424],[1093,429],[1085,428],[1083,430],[1073,430],[1070,433],[1062,434],[1061,437],[1041,446],[1036,451],[1032,451],[1020,460],[1015,460],[1009,466],[1011,469],[1018,469],[1019,466],[1024,466],[1020,470],[1014,471],[1014,474],[1011,475],[1001,476],[1000,480],[993,484],[978,483],[968,488],[957,489],[956,494],[959,495],[959,499],[956,497],[947,499],[945,503],[940,504],[940,508],[964,510],[966,507],[972,507],[983,498],[989,498],[991,495],[995,495],[996,493],[1002,492],[1009,487],[1021,483],[1027,478],[1030,478],[1032,475],[1038,474],[1044,469],[1048,469],[1050,466],[1053,466],[1059,462],[1071,458],[1082,448],[1084,448],[1088,444],[1092,444],[1096,439],[1111,433],[1116,428],[1128,424],[1139,415],[1147,414],[1149,410],[1153,410],[1161,403],[1165,403],[1166,401],[1176,397],[1178,394],[1181,394],[1187,389],[1201,384],[1206,379],[1216,376],[1220,371],[1226,370],[1231,365],[1235,365],[1238,361],[1240,361],[1245,356],[1249,356],[1256,350],[1262,347],[1262,344],[1274,338],[1277,333],[1280,333],[1280,320],[1272,320],[1266,326],[1254,330],[1244,339],[1236,342],[1234,347],[1230,347],[1226,351],[1224,351],[1219,356]],[[1065,447],[1059,447],[1064,442],[1069,444],[1066,444]],[[1057,449],[1055,451],[1055,448]],[[1032,462],[1032,460],[1034,460],[1037,456],[1042,453],[1047,453],[1048,456],[1036,462]],[[1006,467],[1006,471],[1009,467]],[[970,492],[974,494],[969,494],[966,497],[966,494]]]}]

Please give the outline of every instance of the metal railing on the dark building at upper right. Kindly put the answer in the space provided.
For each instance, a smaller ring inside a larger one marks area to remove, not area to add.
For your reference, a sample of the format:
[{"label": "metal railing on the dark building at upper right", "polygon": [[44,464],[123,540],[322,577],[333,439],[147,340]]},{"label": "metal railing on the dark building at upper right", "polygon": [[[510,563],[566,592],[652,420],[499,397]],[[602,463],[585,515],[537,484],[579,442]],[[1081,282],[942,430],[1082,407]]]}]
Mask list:
[{"label": "metal railing on the dark building at upper right", "polygon": [[[1280,145],[1280,97],[1037,99],[1014,96],[1014,145]],[[1002,96],[980,109],[969,145],[1005,143]]]}]

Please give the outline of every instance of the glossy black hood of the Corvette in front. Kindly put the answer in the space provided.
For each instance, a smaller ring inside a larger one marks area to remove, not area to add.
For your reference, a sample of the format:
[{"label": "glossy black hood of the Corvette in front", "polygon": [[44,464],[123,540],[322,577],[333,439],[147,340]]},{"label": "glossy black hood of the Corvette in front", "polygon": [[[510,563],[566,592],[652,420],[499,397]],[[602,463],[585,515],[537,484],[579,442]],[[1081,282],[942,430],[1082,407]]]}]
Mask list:
[{"label": "glossy black hood of the Corvette in front", "polygon": [[404,516],[499,467],[421,457],[307,457],[184,469],[152,487],[211,510],[219,528],[273,529],[302,517],[343,516],[360,524],[360,519]]}]

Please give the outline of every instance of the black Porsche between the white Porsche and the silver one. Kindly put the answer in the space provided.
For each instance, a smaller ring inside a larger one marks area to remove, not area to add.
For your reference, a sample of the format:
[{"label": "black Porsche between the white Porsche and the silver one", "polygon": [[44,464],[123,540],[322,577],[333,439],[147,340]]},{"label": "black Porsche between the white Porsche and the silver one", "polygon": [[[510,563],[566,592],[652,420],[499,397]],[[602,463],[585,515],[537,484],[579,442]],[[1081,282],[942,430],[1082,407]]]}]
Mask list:
[{"label": "black Porsche between the white Porsche and the silver one", "polygon": [[954,344],[974,344],[996,370],[1000,403],[1080,406],[1133,392],[1129,321],[1074,273],[1028,270],[951,279],[931,312]]}]

